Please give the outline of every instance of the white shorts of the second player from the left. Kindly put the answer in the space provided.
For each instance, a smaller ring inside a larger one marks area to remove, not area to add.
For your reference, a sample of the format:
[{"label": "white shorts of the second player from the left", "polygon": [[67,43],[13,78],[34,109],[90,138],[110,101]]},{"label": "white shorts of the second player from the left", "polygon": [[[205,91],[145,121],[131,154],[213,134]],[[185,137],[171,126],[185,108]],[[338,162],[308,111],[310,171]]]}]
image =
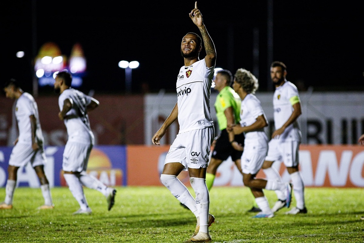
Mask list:
[{"label": "white shorts of the second player from the left", "polygon": [[67,141],[63,152],[63,171],[82,172],[86,171],[88,158],[90,157],[93,144]]}]

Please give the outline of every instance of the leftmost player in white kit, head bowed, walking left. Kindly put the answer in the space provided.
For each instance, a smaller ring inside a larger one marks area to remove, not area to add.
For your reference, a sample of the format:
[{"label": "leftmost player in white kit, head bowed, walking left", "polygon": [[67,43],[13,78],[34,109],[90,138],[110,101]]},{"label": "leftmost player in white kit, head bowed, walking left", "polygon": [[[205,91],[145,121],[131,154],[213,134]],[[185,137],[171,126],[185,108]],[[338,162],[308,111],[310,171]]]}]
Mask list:
[{"label": "leftmost player in white kit, head bowed, walking left", "polygon": [[13,208],[13,194],[16,187],[17,171],[20,167],[31,163],[39,181],[44,197],[44,205],[38,209],[52,209],[52,196],[48,179],[44,173],[46,154],[44,153],[44,138],[39,122],[38,106],[33,96],[24,92],[15,79],[10,79],[4,85],[7,98],[16,99],[15,117],[19,129],[19,137],[15,140],[8,166],[8,180],[5,186],[5,201],[0,209]]}]

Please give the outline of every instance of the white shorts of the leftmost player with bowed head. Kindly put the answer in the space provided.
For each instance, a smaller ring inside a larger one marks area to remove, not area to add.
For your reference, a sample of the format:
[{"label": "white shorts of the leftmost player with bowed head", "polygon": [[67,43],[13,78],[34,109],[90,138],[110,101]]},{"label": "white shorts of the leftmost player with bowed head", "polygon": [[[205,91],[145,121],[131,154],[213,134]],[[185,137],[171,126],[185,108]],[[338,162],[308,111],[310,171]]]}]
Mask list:
[{"label": "white shorts of the leftmost player with bowed head", "polygon": [[9,165],[23,167],[28,164],[34,168],[46,164],[46,154],[43,149],[34,151],[32,145],[17,143],[10,154]]}]

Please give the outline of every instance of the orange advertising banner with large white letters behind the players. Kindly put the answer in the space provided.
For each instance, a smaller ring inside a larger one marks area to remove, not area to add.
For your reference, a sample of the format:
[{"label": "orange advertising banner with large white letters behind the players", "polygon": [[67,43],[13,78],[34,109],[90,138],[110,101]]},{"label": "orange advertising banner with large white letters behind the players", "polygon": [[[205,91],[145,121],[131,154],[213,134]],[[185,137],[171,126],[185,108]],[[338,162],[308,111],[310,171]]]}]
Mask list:
[{"label": "orange advertising banner with large white letters behind the players", "polygon": [[[169,145],[127,146],[128,185],[162,185],[159,176]],[[364,146],[301,145],[300,171],[306,187],[364,187]],[[281,161],[273,163],[282,180],[290,176]],[[265,178],[261,170],[257,177]],[[189,186],[187,172],[178,178]],[[218,168],[214,186],[244,186],[242,176],[229,158]]]}]

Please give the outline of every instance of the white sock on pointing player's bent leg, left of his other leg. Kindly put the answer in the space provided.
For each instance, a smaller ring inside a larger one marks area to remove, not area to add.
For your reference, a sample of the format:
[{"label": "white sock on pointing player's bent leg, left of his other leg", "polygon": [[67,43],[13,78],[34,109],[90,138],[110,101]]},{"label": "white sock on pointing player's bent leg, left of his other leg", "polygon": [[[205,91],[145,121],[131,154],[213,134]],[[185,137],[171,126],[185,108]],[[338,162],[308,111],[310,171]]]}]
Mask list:
[{"label": "white sock on pointing player's bent leg, left of his other leg", "polygon": [[193,212],[194,215],[198,217],[195,199],[187,187],[183,185],[183,183],[177,178],[177,176],[162,174],[161,182],[167,189],[169,189],[169,191],[171,191],[172,195],[177,198],[178,201],[185,204],[191,210],[191,212]]}]

